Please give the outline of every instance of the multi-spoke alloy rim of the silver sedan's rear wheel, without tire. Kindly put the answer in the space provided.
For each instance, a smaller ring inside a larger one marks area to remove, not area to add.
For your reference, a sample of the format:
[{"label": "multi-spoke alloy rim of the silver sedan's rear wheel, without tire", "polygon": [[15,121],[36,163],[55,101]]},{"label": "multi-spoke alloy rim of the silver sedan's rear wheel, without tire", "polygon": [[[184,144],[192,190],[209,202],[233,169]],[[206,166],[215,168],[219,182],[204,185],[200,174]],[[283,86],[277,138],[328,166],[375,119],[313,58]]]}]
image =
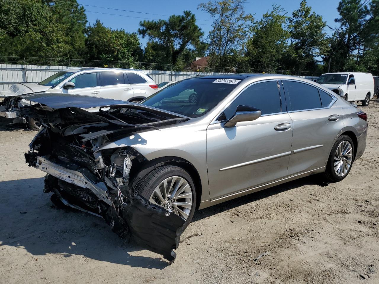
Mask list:
[{"label": "multi-spoke alloy rim of the silver sedan's rear wheel, without tire", "polygon": [[352,146],[349,141],[342,141],[334,153],[334,172],[337,176],[345,176],[353,159]]}]

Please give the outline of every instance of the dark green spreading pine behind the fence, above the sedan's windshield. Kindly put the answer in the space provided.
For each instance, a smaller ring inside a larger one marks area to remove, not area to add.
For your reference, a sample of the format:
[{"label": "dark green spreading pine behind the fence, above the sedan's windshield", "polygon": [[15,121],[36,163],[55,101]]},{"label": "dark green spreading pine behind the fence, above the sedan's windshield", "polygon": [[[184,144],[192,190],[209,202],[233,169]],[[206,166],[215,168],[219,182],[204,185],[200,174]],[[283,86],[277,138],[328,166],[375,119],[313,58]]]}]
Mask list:
[{"label": "dark green spreading pine behind the fence, above the sedan's windshield", "polygon": [[204,53],[206,50],[207,46],[202,42],[204,33],[196,25],[195,15],[190,11],[172,15],[168,20],[144,20],[139,26],[138,33],[149,38],[145,48],[147,61],[177,64],[183,52],[196,50]]}]

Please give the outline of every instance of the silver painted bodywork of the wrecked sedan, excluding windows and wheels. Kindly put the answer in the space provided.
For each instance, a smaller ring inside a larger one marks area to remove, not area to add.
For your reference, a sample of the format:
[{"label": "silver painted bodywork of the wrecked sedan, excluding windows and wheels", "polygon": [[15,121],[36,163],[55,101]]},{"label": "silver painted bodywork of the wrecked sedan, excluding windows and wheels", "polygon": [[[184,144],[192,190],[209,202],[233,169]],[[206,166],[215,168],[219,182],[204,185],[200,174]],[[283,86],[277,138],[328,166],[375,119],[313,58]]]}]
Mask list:
[{"label": "silver painted bodywork of the wrecked sedan, excluding windows and wheels", "polygon": [[[216,118],[233,98],[252,83],[273,79],[296,80],[313,85],[331,94],[336,101],[326,109],[267,115],[253,122],[238,122],[234,129],[222,128]],[[160,130],[140,131],[107,142],[98,151],[132,146],[148,160],[165,156],[185,159],[194,165],[200,176],[201,209],[302,176],[323,172],[334,141],[345,131],[352,131],[358,137],[356,158],[359,158],[365,148],[367,123],[357,115],[351,115],[348,119],[348,114],[357,111],[359,109],[326,87],[307,79],[285,75],[256,75],[243,80],[204,117],[176,126],[162,127]],[[336,122],[327,119],[333,114],[340,115]],[[317,123],[312,122],[313,118]],[[293,128],[274,133],[274,126],[283,122],[293,123]],[[294,139],[291,145],[292,131]],[[250,145],[246,145],[246,142]],[[288,144],[284,145],[283,142]],[[238,167],[220,171],[233,165]]]}]

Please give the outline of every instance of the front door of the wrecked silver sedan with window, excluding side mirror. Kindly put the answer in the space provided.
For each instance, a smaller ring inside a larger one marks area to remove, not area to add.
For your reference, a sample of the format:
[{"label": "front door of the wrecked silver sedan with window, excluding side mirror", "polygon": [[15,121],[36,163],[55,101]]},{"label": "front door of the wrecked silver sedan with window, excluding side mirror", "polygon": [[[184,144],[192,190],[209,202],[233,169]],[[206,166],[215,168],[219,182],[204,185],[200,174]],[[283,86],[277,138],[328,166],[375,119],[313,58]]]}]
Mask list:
[{"label": "front door of the wrecked silver sedan with window, excluding side mirror", "polygon": [[[208,126],[207,167],[211,200],[288,175],[292,121],[279,86],[276,80],[248,86],[222,112],[218,118],[220,122]],[[225,121],[232,117],[238,105],[258,108],[262,116],[225,127]]]}]

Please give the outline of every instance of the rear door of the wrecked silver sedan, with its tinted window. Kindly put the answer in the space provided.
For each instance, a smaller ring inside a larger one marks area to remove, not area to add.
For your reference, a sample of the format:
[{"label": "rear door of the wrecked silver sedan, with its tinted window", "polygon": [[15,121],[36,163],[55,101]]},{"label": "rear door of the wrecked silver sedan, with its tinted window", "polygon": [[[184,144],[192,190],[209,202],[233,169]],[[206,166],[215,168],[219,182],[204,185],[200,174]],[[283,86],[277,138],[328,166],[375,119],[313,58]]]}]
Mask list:
[{"label": "rear door of the wrecked silver sedan, with its tinted window", "polygon": [[326,165],[335,137],[343,129],[343,109],[336,98],[315,86],[283,80],[288,114],[293,121],[288,175],[321,169]]}]

